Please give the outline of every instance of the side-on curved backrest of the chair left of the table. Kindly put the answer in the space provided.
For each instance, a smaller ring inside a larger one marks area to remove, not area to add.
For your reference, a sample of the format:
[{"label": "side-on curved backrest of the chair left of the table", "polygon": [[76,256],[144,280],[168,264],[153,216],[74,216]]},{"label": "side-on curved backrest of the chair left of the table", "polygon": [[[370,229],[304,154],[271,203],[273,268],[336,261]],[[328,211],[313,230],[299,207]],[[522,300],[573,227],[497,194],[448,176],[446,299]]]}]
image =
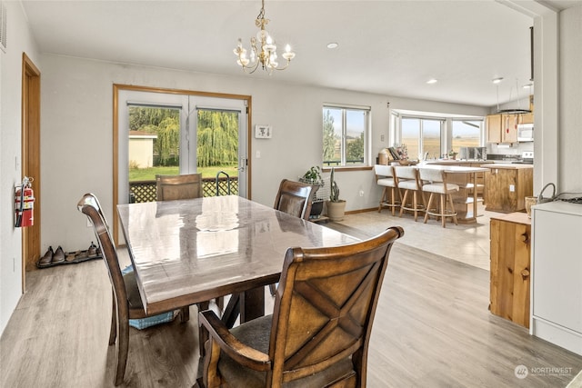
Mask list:
[{"label": "side-on curved backrest of the chair left of the table", "polygon": [[103,254],[105,266],[107,267],[107,272],[109,274],[109,280],[113,287],[117,313],[119,316],[128,317],[129,306],[127,304],[124,277],[123,274],[121,274],[115,244],[109,233],[109,226],[105,221],[101,205],[94,194],[88,193],[83,195],[76,207],[79,212],[87,216],[95,229],[95,237],[101,247],[101,254]]}]

